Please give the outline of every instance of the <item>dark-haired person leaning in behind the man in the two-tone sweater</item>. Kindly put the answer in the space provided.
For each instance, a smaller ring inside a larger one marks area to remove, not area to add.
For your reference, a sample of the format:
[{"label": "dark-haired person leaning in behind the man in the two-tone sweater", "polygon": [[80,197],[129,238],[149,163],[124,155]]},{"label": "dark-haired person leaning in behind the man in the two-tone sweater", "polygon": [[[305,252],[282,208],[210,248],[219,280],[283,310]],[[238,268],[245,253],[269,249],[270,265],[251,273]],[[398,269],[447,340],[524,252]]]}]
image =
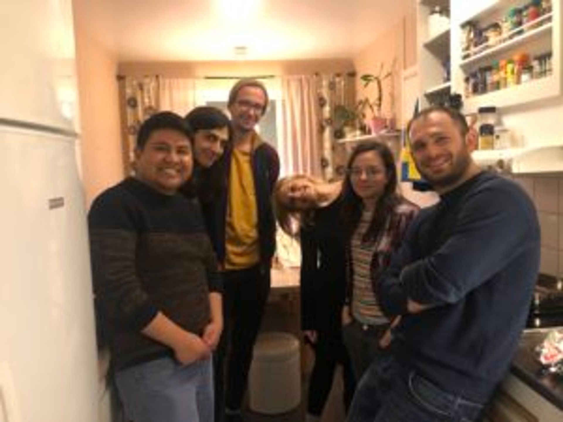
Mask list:
[{"label": "dark-haired person leaning in behind the man in the two-tone sweater", "polygon": [[193,131],[194,175],[181,192],[198,196],[205,209],[223,187],[222,156],[231,144],[233,129],[227,115],[216,107],[195,107],[184,119]]}]

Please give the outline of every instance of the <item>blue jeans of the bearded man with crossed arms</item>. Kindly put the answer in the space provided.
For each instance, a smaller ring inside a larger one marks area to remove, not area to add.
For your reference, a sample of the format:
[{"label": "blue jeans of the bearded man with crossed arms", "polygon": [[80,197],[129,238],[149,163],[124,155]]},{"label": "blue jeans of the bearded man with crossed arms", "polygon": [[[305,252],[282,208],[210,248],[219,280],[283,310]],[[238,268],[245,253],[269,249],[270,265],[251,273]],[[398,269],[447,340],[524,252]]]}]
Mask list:
[{"label": "blue jeans of the bearded man with crossed arms", "polygon": [[483,406],[444,391],[392,358],[374,362],[358,384],[348,422],[472,422]]}]

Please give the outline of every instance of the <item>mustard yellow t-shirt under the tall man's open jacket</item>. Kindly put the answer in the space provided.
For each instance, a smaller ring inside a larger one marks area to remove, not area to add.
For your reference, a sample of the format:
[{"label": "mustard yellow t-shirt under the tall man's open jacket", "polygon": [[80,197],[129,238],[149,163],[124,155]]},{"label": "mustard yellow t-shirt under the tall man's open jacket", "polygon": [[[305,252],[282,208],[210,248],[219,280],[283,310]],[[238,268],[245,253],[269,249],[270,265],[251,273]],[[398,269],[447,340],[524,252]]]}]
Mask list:
[{"label": "mustard yellow t-shirt under the tall man's open jacket", "polygon": [[233,149],[225,227],[225,269],[242,270],[260,261],[256,190],[249,152]]}]

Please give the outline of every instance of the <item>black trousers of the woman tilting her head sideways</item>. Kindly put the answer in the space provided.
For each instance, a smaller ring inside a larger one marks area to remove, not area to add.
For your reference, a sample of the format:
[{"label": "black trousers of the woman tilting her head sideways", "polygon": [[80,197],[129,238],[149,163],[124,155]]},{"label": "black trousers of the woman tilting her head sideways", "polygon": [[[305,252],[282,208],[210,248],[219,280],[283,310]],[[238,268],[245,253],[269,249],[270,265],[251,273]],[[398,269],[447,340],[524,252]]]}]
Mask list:
[{"label": "black trousers of the woman tilting her head sideways", "polygon": [[309,380],[307,412],[315,416],[320,416],[323,412],[338,363],[342,365],[343,400],[344,407],[348,410],[354,396],[355,380],[348,352],[342,342],[341,331],[339,329],[318,331],[317,342],[312,347],[315,351],[315,363]]}]

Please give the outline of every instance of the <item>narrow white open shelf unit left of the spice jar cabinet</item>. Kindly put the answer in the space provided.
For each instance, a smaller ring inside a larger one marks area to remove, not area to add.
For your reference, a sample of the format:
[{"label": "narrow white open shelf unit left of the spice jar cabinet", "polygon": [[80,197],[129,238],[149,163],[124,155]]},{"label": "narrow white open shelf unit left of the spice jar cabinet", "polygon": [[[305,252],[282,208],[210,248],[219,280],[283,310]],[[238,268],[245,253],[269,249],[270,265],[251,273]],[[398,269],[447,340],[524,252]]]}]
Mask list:
[{"label": "narrow white open shelf unit left of the spice jar cabinet", "polygon": [[419,97],[423,107],[441,103],[450,94],[449,3],[420,0],[417,4]]}]

